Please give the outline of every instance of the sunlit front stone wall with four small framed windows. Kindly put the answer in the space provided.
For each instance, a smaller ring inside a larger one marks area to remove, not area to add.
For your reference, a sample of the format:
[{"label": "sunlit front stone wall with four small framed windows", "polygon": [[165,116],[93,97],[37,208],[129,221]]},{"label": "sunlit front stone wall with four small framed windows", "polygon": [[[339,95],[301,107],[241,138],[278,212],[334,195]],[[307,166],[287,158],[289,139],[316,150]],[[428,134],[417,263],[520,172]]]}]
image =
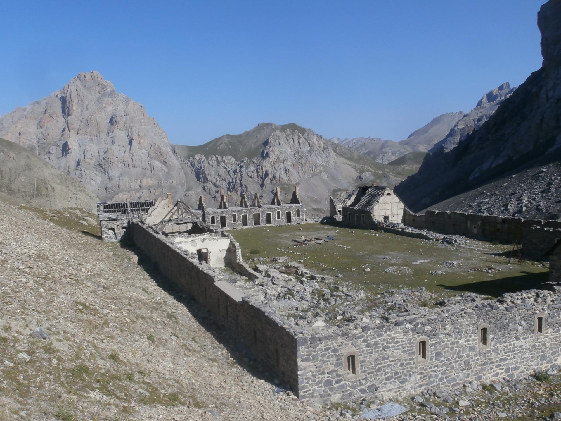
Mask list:
[{"label": "sunlit front stone wall with four small framed windows", "polygon": [[[561,358],[561,288],[554,288],[378,319],[353,331],[318,330],[298,341],[300,397],[316,402],[369,395],[388,399],[548,368]],[[536,331],[537,316],[544,317],[543,333]],[[488,329],[486,346],[480,342],[482,327]],[[418,355],[419,341],[426,341],[425,358]],[[347,369],[352,355],[356,374]]]}]

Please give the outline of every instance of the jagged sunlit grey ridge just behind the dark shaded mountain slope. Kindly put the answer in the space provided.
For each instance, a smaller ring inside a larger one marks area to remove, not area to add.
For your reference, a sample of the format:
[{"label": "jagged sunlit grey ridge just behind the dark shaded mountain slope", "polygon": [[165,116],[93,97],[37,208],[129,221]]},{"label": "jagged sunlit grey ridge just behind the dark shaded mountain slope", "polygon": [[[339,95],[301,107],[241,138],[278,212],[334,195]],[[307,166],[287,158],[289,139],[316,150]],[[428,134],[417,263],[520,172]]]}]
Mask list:
[{"label": "jagged sunlit grey ridge just behind the dark shaded mountain slope", "polygon": [[444,148],[444,152],[452,150],[459,142],[463,141],[463,139],[468,137],[474,130],[479,129],[485,121],[489,120],[489,117],[499,108],[500,103],[511,96],[514,90],[516,90],[516,88],[511,88],[511,84],[508,82],[503,83],[498,88],[490,90],[477,102],[475,108],[472,108],[470,112],[464,114],[463,117],[454,124],[442,141],[434,144],[429,152],[434,153],[441,147]]}]

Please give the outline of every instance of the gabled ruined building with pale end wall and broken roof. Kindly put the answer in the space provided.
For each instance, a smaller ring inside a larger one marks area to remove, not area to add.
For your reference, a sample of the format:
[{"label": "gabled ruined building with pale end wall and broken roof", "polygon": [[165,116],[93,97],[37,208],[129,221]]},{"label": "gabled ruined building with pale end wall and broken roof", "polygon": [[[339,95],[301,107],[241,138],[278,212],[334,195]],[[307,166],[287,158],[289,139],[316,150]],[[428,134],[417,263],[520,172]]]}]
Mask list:
[{"label": "gabled ruined building with pale end wall and broken roof", "polygon": [[401,223],[405,205],[391,189],[363,185],[352,201],[342,206],[342,222],[347,227],[374,229],[380,223]]}]

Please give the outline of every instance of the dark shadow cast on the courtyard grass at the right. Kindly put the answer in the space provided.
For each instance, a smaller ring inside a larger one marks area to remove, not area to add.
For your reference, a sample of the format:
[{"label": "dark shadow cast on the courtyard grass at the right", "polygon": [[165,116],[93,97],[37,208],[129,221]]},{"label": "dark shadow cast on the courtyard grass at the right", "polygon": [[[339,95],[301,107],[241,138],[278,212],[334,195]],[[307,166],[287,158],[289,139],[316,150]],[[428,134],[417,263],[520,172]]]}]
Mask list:
[{"label": "dark shadow cast on the courtyard grass at the right", "polygon": [[523,272],[525,275],[516,277],[482,280],[481,282],[466,283],[461,285],[444,285],[439,287],[452,291],[473,292],[491,297],[499,297],[508,292],[520,292],[525,289],[549,289],[546,284],[549,280],[549,271],[540,273]]}]

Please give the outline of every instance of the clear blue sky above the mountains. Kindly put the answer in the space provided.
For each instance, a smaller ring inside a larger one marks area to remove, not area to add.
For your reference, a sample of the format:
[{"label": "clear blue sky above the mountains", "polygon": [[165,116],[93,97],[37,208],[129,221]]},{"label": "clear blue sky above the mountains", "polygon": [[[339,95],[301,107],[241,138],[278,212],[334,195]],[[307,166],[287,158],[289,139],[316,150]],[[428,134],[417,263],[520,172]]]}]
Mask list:
[{"label": "clear blue sky above the mountains", "polygon": [[269,121],[398,141],[539,69],[544,1],[4,1],[0,115],[97,70],[172,143]]}]

